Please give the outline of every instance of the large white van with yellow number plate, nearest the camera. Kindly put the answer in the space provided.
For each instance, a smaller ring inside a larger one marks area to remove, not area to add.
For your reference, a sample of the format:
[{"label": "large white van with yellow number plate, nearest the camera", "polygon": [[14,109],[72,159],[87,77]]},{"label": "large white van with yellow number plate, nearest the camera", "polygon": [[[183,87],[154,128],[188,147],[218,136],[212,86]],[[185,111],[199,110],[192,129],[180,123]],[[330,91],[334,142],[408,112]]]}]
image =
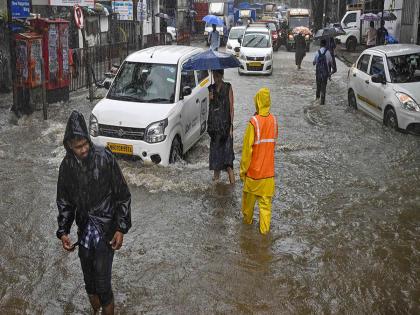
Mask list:
[{"label": "large white van with yellow number plate, nearest the camera", "polygon": [[92,110],[93,143],[164,166],[182,157],[207,129],[208,71],[182,70],[202,51],[157,46],[128,56]]}]

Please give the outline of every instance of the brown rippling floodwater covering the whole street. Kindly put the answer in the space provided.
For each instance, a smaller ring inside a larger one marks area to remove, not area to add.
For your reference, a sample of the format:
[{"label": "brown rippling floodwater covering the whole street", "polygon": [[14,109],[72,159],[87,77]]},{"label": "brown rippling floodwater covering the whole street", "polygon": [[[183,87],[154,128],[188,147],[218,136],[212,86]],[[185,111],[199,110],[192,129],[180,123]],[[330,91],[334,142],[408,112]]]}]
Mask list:
[{"label": "brown rippling floodwater covering the whole street", "polygon": [[[237,184],[213,183],[209,137],[185,162],[120,160],[133,227],[116,253],[117,314],[419,314],[420,138],[347,106],[347,67],[313,105],[313,53],[274,54],[272,76],[225,71],[235,96]],[[253,96],[278,117],[271,233],[242,224],[239,161]],[[0,100],[0,314],[89,314],[77,253],[55,237],[58,167],[87,91],[11,124]],[[75,239],[73,225],[72,238]]]}]

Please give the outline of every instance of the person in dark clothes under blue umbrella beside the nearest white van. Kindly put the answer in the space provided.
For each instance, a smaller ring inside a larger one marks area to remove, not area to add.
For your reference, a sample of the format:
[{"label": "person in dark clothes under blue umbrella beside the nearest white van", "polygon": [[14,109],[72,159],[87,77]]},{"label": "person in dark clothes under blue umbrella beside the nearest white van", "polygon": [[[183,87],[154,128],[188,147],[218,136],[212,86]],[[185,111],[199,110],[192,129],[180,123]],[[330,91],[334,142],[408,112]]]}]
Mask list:
[{"label": "person in dark clothes under blue umbrella beside the nearest white van", "polygon": [[210,135],[209,168],[213,180],[219,180],[220,171],[227,171],[229,182],[235,183],[233,173],[233,91],[230,83],[223,81],[223,70],[214,70],[214,84],[209,86],[209,116],[207,132]]}]

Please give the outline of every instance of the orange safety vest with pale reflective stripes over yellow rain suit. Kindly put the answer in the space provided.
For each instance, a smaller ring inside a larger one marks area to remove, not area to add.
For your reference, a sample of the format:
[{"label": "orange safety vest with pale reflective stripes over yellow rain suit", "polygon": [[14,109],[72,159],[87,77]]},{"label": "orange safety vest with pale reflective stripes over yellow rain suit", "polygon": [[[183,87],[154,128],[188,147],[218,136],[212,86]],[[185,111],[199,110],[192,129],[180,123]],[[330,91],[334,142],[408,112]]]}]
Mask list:
[{"label": "orange safety vest with pale reflective stripes over yellow rain suit", "polygon": [[272,114],[252,116],[254,144],[251,164],[246,175],[253,179],[274,177],[274,149],[278,135],[277,120]]}]

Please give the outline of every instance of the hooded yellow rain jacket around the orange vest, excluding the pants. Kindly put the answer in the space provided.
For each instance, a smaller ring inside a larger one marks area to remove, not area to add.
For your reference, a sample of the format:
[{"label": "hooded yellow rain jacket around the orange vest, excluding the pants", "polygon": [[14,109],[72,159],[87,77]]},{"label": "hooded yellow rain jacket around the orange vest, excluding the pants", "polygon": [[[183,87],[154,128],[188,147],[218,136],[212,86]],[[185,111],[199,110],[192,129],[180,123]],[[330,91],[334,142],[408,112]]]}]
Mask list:
[{"label": "hooded yellow rain jacket around the orange vest, excluding the pants", "polygon": [[[254,97],[257,114],[268,116],[270,114],[270,90],[262,88]],[[252,147],[254,145],[255,131],[254,126],[249,122],[245,131],[244,142],[242,146],[242,158],[240,165],[240,177],[244,182],[243,190],[257,196],[274,195],[274,177],[264,179],[252,179],[246,176],[252,160]]]}]

